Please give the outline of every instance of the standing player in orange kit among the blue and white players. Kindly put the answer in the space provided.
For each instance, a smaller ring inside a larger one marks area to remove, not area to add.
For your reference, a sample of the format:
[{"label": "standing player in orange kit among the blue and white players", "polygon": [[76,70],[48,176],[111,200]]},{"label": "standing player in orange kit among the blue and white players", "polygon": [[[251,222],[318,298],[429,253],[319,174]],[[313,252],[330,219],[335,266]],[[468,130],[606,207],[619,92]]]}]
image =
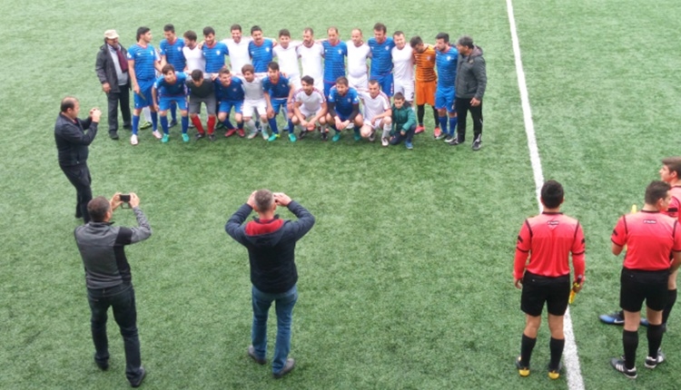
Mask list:
[{"label": "standing player in orange kit among the blue and white players", "polygon": [[416,63],[416,115],[419,121],[416,133],[425,130],[423,116],[426,112],[426,103],[428,103],[433,109],[433,122],[435,123],[433,137],[438,138],[441,132],[438,110],[435,109],[435,91],[438,88],[438,75],[435,73],[435,48],[424,44],[418,35],[410,39],[410,46],[413,49],[414,63]]}]

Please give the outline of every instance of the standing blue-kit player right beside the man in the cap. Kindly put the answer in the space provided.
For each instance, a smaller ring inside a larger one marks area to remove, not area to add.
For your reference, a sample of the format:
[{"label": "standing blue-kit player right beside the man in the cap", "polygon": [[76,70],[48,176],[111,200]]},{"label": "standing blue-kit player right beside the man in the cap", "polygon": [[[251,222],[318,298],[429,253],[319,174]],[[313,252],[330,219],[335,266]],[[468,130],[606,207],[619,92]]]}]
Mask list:
[{"label": "standing blue-kit player right beside the man in the cap", "polygon": [[149,107],[152,113],[153,136],[161,139],[158,131],[158,115],[153,107],[152,88],[156,81],[156,71],[161,70],[161,59],[151,45],[152,31],[149,27],[137,29],[137,44],[128,49],[128,72],[133,82],[134,110],[133,110],[133,135],[130,143],[136,145],[137,131],[140,126],[140,112],[144,107]]}]

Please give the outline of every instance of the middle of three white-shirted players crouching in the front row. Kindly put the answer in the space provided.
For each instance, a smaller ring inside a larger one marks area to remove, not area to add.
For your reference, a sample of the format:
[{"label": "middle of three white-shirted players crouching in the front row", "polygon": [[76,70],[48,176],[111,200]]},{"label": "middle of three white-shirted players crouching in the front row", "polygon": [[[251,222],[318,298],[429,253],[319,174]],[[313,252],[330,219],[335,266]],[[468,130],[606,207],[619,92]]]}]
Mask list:
[{"label": "middle of three white-shirted players crouching in the front row", "polygon": [[[326,133],[326,98],[324,93],[314,87],[314,80],[310,76],[302,76],[302,87],[293,95],[293,124],[301,125],[301,139],[305,133],[314,130],[317,123],[320,132]],[[323,127],[323,129],[322,129]]]}]

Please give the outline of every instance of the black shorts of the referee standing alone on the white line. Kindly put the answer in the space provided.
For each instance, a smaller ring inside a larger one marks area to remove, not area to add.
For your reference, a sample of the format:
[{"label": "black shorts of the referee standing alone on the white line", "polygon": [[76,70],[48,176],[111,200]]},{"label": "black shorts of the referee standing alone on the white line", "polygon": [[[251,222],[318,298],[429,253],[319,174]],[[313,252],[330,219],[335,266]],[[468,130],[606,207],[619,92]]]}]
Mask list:
[{"label": "black shorts of the referee standing alone on the white line", "polygon": [[568,309],[570,288],[569,275],[551,278],[525,272],[520,309],[528,316],[538,317],[546,302],[548,314],[563,316]]}]

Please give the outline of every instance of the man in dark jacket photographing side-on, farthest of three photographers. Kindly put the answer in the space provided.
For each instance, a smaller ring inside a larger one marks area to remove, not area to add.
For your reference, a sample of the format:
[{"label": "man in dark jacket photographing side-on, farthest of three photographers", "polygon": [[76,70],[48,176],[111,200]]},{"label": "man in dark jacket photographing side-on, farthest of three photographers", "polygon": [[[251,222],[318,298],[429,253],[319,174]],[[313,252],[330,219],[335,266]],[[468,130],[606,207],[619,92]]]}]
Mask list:
[{"label": "man in dark jacket photographing side-on, farthest of three photographers", "polygon": [[[102,112],[98,108],[90,110],[86,120],[78,119],[80,103],[74,97],[67,96],[62,100],[61,112],[54,124],[54,141],[57,145],[59,166],[66,178],[75,187],[75,218],[90,221],[87,214],[87,202],[93,199],[90,189],[92,178],[87,168],[87,147],[97,135],[97,124]],[[85,129],[89,129],[85,132]]]}]

